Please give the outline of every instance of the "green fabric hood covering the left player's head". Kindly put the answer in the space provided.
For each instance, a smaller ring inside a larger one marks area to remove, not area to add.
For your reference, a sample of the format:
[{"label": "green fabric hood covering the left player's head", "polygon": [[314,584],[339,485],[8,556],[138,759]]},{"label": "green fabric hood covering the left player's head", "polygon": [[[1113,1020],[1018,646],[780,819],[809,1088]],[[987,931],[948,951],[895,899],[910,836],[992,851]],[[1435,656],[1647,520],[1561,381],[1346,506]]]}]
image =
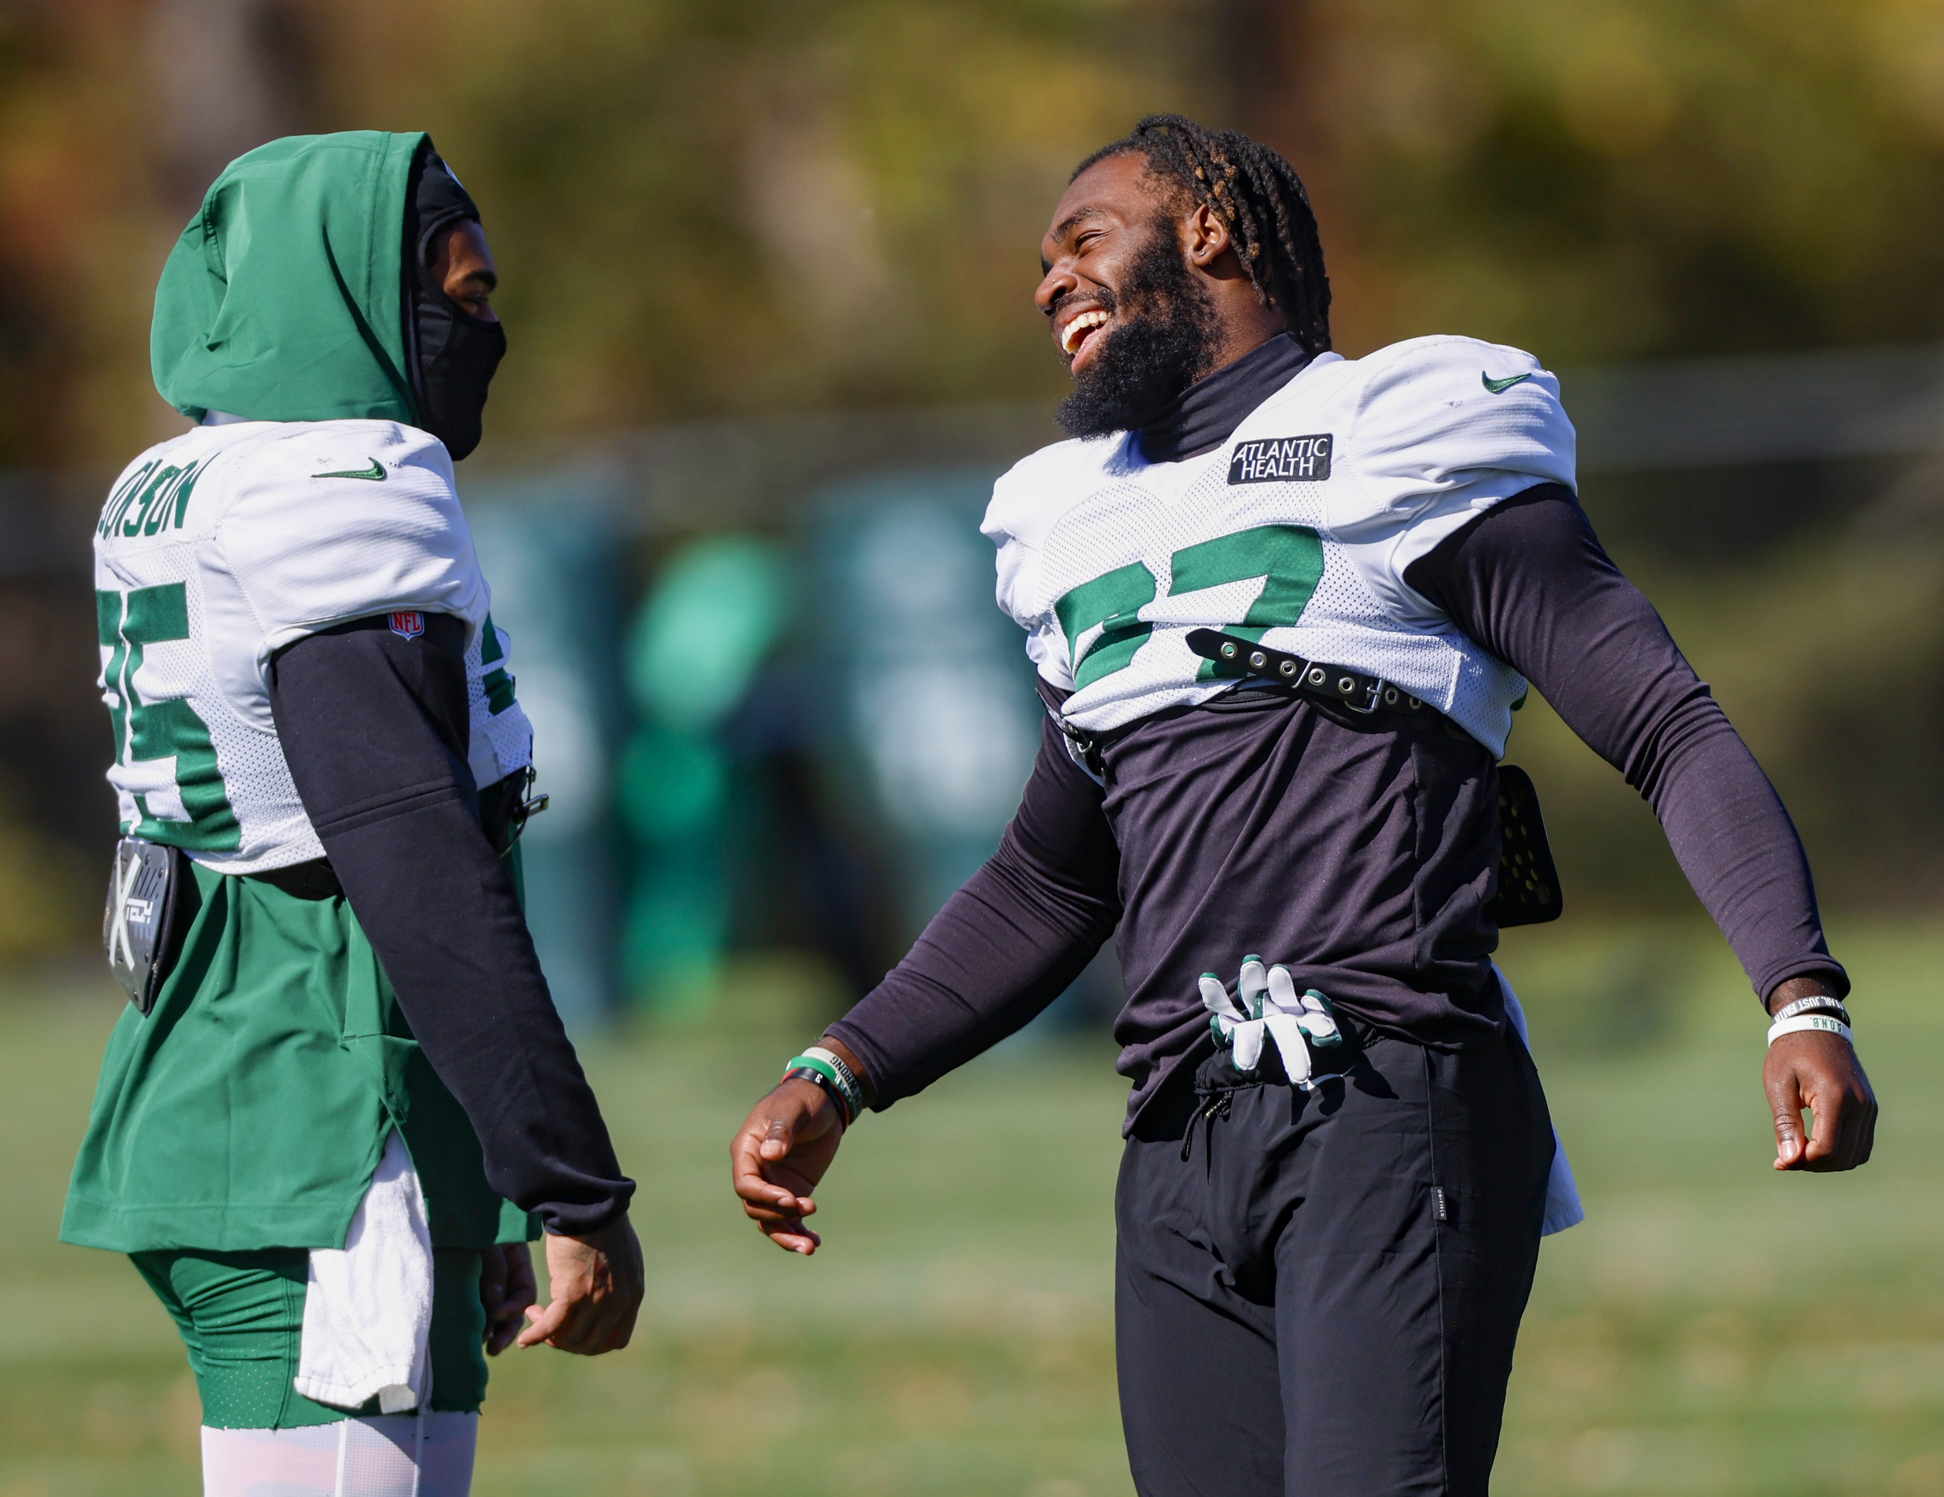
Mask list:
[{"label": "green fabric hood covering the left player's head", "polygon": [[210,185],[156,288],[150,366],[189,420],[414,426],[404,192],[424,132],[286,136]]}]

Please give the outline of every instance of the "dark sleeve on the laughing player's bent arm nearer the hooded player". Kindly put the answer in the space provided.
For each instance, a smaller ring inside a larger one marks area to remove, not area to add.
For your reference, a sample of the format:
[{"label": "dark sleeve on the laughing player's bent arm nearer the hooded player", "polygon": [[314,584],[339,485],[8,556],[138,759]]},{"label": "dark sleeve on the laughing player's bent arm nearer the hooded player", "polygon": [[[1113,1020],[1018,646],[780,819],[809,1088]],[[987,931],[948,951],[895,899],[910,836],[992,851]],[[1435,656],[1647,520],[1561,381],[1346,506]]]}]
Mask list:
[{"label": "dark sleeve on the laughing player's bent arm nearer the hooded player", "polygon": [[830,1027],[863,1062],[875,1106],[923,1091],[1059,997],[1120,923],[1118,879],[1100,787],[1046,721],[999,850]]}]

